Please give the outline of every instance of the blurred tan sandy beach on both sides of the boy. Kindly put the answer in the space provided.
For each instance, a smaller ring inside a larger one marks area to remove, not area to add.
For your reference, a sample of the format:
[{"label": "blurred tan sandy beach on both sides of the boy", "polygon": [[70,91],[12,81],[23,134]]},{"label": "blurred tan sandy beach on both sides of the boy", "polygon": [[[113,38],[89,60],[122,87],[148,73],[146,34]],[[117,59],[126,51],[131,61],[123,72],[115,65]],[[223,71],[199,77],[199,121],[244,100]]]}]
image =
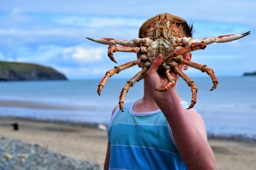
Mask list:
[{"label": "blurred tan sandy beach on both sides of the boy", "polygon": [[[19,123],[13,131],[11,124]],[[92,124],[49,122],[26,118],[0,118],[0,136],[39,144],[81,160],[103,166],[108,142],[106,131]],[[209,139],[216,157],[216,169],[256,169],[256,144],[227,139]]]}]

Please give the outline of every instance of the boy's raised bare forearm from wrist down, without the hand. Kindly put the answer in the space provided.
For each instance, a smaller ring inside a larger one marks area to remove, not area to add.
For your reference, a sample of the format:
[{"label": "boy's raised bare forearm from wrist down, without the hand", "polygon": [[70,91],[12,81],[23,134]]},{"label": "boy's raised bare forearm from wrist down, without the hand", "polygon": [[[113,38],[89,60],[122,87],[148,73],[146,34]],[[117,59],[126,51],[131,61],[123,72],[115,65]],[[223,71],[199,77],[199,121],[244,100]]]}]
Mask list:
[{"label": "boy's raised bare forearm from wrist down, without the hand", "polygon": [[168,120],[177,148],[189,169],[213,169],[211,147],[195,122],[191,121],[188,111],[181,106],[177,92],[170,91],[156,97],[155,101]]}]

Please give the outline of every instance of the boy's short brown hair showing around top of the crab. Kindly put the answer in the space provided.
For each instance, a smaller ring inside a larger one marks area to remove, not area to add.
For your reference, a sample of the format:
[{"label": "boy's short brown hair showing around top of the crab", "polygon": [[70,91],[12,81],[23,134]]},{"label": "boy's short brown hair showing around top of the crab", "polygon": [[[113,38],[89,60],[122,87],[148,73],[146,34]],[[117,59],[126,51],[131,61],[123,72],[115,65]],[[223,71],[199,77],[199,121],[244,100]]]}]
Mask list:
[{"label": "boy's short brown hair showing around top of the crab", "polygon": [[146,20],[140,27],[139,31],[139,38],[145,38],[146,35],[146,30],[152,27],[152,22],[155,22],[159,19],[159,16],[161,18],[164,18],[166,16],[167,20],[170,20],[171,22],[175,22],[177,25],[181,25],[183,27],[184,33],[187,37],[192,37],[193,34],[193,24],[189,25],[186,20],[177,17],[175,15],[172,15],[170,13],[161,13],[156,15],[155,17],[149,18]]}]

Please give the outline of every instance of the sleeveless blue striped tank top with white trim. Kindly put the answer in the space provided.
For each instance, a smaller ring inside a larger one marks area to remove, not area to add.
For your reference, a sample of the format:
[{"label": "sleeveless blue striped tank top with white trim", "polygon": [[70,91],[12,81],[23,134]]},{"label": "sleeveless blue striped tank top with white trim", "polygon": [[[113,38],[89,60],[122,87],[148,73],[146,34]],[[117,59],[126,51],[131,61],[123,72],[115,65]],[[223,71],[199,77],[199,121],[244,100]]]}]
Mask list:
[{"label": "sleeveless blue striped tank top with white trim", "polygon": [[135,113],[133,104],[125,103],[124,112],[117,109],[109,122],[109,169],[188,169],[163,112]]}]

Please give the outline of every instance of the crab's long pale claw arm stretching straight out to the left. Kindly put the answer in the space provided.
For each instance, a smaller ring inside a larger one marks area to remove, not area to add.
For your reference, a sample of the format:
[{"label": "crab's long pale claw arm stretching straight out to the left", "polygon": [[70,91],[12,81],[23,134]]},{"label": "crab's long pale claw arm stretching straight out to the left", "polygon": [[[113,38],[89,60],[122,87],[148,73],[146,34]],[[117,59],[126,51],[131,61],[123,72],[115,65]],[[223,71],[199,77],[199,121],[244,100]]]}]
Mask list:
[{"label": "crab's long pale claw arm stretching straight out to the left", "polygon": [[150,38],[134,38],[131,40],[125,40],[125,39],[113,39],[113,38],[88,38],[91,41],[95,41],[97,43],[101,43],[104,45],[122,45],[122,46],[131,46],[131,47],[137,47],[141,45],[150,45],[150,43],[153,42]]}]

